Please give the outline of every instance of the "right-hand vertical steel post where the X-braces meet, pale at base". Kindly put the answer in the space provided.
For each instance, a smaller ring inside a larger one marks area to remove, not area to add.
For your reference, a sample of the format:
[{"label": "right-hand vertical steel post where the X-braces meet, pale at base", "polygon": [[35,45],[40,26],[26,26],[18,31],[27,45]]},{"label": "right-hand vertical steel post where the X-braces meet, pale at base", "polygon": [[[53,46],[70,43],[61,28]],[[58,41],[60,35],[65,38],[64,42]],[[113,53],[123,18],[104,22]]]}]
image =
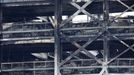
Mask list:
[{"label": "right-hand vertical steel post where the X-braces meet, pale at base", "polygon": [[105,30],[104,36],[103,36],[103,49],[104,49],[104,64],[103,67],[106,69],[105,75],[108,75],[108,58],[109,58],[109,45],[108,45],[108,25],[109,25],[109,1],[104,0],[103,1],[103,17],[104,17],[104,25],[103,29]]}]

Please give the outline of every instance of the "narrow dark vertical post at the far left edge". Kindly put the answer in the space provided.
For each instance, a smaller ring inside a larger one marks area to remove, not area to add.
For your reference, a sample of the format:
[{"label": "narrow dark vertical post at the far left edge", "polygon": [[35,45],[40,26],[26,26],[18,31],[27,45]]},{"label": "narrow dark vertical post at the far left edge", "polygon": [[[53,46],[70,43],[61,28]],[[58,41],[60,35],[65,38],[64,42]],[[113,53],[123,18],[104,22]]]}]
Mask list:
[{"label": "narrow dark vertical post at the far left edge", "polygon": [[[2,39],[2,5],[0,2],[0,65],[2,63],[2,42],[1,42],[1,39]],[[0,74],[2,75],[2,68],[0,69],[0,71],[1,71]]]}]

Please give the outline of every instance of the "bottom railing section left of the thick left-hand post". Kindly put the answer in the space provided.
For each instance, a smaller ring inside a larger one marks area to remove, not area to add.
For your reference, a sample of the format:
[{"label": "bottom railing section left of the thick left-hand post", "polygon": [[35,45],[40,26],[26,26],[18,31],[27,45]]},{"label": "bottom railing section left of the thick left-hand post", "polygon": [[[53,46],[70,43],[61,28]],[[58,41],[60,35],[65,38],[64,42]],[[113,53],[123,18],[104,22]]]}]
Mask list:
[{"label": "bottom railing section left of the thick left-hand post", "polygon": [[30,61],[30,62],[9,62],[2,63],[2,71],[34,71],[34,70],[51,70],[53,61]]}]

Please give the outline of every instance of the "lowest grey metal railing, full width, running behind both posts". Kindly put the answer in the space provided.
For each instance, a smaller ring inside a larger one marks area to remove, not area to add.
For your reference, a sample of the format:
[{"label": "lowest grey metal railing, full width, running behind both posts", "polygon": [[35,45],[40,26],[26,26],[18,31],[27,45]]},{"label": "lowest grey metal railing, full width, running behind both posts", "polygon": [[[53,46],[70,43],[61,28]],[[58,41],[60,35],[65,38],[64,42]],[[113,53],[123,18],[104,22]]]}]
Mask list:
[{"label": "lowest grey metal railing, full width, running behind both posts", "polygon": [[[8,62],[1,64],[2,71],[13,72],[13,71],[46,71],[54,69],[54,61],[30,61],[30,62]],[[79,59],[71,60],[61,67],[63,71],[65,69],[82,69],[91,72],[96,69],[101,69],[102,65],[96,63],[93,59]],[[134,59],[133,58],[118,58],[108,65],[109,71],[116,73],[132,72],[134,73]],[[70,70],[69,70],[70,71]]]}]

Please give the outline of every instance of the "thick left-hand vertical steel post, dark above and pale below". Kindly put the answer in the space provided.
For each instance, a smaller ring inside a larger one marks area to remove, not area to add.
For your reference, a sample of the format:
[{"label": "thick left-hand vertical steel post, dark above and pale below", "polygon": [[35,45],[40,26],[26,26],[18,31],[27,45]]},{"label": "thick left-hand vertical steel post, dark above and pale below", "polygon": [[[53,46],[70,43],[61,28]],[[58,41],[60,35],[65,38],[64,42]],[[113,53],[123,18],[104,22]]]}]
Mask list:
[{"label": "thick left-hand vertical steel post, dark above and pale below", "polygon": [[61,57],[61,47],[60,47],[60,31],[59,25],[62,21],[62,0],[55,0],[55,28],[54,28],[54,37],[55,37],[55,58],[54,58],[54,75],[60,75],[60,57]]}]

